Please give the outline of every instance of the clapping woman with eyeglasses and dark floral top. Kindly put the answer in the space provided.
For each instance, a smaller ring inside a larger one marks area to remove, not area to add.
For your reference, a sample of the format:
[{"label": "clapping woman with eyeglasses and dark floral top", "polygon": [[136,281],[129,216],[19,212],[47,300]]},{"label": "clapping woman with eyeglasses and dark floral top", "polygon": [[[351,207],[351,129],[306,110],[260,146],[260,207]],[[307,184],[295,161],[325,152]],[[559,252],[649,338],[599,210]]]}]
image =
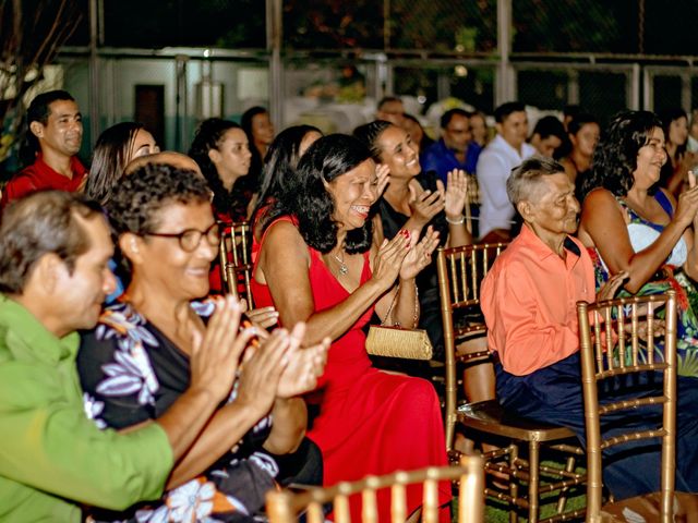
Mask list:
[{"label": "clapping woman with eyeglasses and dark floral top", "polygon": [[95,423],[129,430],[157,418],[186,389],[190,356],[203,344],[234,343],[240,358],[219,369],[237,375],[229,400],[173,464],[161,499],[95,519],[252,522],[279,473],[273,454],[294,452],[294,469],[282,474],[317,483],[298,394],[314,387],[327,342],[301,351],[302,324],[266,338],[254,328],[231,336],[245,325],[237,301],[195,301],[208,293],[219,243],[206,182],[192,170],[146,166],[115,190],[108,210],[132,278],[82,339],[77,366]]}]

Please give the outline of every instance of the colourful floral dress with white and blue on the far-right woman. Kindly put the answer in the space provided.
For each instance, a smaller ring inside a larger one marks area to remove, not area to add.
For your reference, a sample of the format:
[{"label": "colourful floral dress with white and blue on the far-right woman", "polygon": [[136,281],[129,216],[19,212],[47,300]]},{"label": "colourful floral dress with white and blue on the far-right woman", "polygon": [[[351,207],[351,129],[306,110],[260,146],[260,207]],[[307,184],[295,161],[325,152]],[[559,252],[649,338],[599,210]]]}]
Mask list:
[{"label": "colourful floral dress with white and blue on the far-right woman", "polygon": [[[654,198],[662,206],[664,211],[673,217],[674,209],[662,191],[654,193]],[[635,252],[642,251],[657,240],[664,230],[664,226],[646,220],[635,212],[627,204],[616,197],[618,204],[630,218],[628,223],[628,235]],[[635,295],[647,296],[661,294],[669,290],[676,291],[676,302],[678,308],[677,323],[677,372],[679,376],[698,377],[698,289],[695,282],[684,273],[682,266],[686,262],[687,247],[682,239],[674,246],[672,254],[662,265],[653,279],[648,281]],[[609,269],[595,248],[589,248],[589,254],[593,260],[597,280],[597,291],[609,280]],[[630,296],[627,291],[618,292],[619,296]],[[659,348],[658,348],[659,349]],[[661,356],[661,351],[655,355]]]}]

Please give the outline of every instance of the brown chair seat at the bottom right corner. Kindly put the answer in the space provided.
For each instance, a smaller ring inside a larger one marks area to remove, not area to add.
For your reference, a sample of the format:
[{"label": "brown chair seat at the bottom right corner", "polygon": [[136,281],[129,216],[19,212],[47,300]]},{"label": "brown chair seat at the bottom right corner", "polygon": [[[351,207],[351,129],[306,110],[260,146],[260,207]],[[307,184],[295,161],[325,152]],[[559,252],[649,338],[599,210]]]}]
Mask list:
[{"label": "brown chair seat at the bottom right corner", "polygon": [[[601,509],[601,521],[628,523],[660,521],[660,494],[652,492],[607,503]],[[698,521],[698,495],[674,492],[674,521]]]}]

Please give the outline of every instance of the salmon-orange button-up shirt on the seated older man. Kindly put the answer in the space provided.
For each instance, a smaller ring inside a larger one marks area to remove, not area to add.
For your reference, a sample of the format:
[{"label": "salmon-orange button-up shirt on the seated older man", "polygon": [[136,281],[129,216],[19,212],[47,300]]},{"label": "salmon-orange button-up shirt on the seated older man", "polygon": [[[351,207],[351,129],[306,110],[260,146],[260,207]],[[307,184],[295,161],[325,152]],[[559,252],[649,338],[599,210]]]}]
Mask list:
[{"label": "salmon-orange button-up shirt on the seated older man", "polygon": [[577,239],[565,251],[562,259],[524,226],[482,282],[488,343],[507,373],[526,376],[579,350],[577,302],[595,301],[593,265]]}]

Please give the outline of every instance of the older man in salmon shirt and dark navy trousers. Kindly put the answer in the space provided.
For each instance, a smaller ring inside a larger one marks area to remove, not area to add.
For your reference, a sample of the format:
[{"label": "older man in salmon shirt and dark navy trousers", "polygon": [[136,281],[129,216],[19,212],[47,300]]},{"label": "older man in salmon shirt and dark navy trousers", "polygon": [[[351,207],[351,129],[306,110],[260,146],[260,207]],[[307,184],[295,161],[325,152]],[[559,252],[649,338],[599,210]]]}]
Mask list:
[{"label": "older man in salmon shirt and dark navy trousers", "polygon": [[[613,297],[627,273],[615,275],[595,293],[591,258],[571,236],[579,203],[563,166],[549,158],[529,158],[514,169],[506,190],[524,226],[493,264],[480,296],[488,343],[495,353],[497,398],[525,417],[570,428],[583,443],[576,304]],[[694,378],[678,379],[678,491],[698,491],[696,384]],[[600,402],[618,400],[624,393],[636,394],[625,386],[600,390]],[[649,427],[655,421],[658,408],[647,409],[634,416],[637,426]],[[604,437],[613,434],[612,417],[602,419]],[[659,443],[625,443],[604,455],[604,484],[617,499],[659,490]]]}]

